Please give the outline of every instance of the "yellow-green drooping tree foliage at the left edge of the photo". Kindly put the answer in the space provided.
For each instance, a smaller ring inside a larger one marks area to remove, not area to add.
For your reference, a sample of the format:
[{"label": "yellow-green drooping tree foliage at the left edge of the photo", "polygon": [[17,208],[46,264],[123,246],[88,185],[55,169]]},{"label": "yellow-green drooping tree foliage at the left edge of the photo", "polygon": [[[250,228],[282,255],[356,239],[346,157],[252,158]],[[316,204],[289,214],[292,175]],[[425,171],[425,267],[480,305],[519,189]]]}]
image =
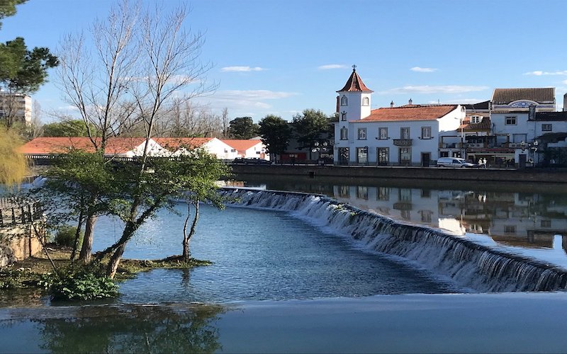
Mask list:
[{"label": "yellow-green drooping tree foliage at the left edge of the photo", "polygon": [[0,183],[21,183],[28,173],[28,161],[20,152],[21,140],[15,132],[0,129]]}]

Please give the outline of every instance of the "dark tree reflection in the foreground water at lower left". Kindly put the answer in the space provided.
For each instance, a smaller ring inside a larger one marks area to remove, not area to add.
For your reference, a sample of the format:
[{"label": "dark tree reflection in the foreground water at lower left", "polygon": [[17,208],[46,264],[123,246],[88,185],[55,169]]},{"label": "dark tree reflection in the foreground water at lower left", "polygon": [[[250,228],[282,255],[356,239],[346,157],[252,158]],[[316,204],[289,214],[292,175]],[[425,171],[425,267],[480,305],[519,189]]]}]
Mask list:
[{"label": "dark tree reflection in the foreground water at lower left", "polygon": [[[72,318],[38,319],[42,349],[53,353],[213,353],[223,307],[82,307]],[[42,327],[43,325],[43,327]]]}]

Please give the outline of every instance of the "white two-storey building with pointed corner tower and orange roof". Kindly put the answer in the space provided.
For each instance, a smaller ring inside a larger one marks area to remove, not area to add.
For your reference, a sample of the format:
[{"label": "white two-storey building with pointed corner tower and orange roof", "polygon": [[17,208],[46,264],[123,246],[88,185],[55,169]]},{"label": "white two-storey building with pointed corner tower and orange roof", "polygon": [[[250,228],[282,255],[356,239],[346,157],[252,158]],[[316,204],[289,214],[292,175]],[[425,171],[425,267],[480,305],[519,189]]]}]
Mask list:
[{"label": "white two-storey building with pointed corner tower and orange roof", "polygon": [[371,91],[353,69],[337,91],[335,163],[430,166],[440,137],[454,134],[465,117],[461,105],[408,105],[371,110]]}]

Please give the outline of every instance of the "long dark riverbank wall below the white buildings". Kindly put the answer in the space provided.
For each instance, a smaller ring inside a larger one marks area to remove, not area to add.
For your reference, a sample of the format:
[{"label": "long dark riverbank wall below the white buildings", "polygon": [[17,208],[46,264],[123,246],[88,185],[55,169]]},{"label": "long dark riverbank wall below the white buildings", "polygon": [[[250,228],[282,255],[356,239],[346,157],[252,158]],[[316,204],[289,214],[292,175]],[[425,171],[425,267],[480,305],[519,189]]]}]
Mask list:
[{"label": "long dark riverbank wall below the white buildings", "polygon": [[437,181],[495,181],[567,183],[565,169],[451,169],[405,166],[232,165],[235,176],[302,176],[422,179]]}]

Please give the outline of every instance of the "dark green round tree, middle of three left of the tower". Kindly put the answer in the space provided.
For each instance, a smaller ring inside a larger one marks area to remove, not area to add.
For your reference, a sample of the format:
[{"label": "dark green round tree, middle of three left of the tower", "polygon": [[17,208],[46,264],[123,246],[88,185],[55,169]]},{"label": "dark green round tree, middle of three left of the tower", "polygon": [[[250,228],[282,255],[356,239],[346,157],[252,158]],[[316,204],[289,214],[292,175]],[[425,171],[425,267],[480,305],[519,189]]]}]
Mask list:
[{"label": "dark green round tree, middle of three left of the tower", "polygon": [[259,122],[259,133],[267,151],[277,162],[277,155],[286,152],[291,138],[288,122],[277,115],[266,115]]}]

